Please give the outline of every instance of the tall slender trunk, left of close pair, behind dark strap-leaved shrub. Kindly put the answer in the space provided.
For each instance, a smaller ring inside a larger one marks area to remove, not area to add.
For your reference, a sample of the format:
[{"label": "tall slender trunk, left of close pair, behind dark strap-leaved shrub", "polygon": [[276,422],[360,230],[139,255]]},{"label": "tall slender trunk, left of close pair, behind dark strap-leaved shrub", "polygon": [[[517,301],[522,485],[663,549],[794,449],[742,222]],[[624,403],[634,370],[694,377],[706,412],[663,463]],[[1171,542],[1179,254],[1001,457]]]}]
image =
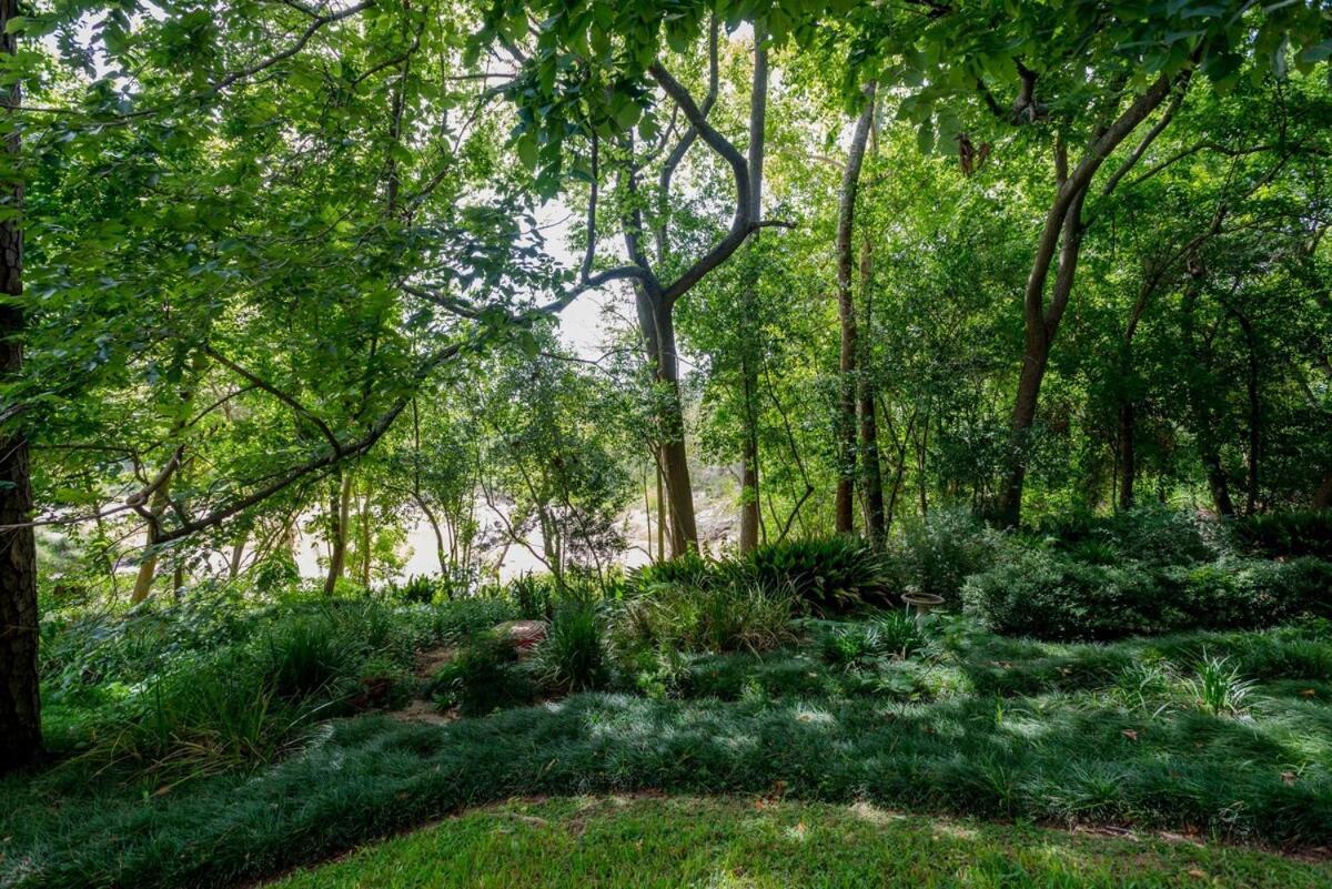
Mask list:
[{"label": "tall slender trunk, left of close pair, behind dark strap-leaved shrub", "polygon": [[860,188],[860,166],[864,145],[874,124],[874,84],[864,88],[864,108],[851,133],[846,168],[842,170],[842,193],[836,214],[836,307],[842,326],[842,349],[838,361],[838,417],[836,417],[836,496],[834,499],[834,528],[850,534],[854,524],[855,502],[855,361],[858,354],[855,329],[855,302],[851,294],[855,270],[855,197]]}]

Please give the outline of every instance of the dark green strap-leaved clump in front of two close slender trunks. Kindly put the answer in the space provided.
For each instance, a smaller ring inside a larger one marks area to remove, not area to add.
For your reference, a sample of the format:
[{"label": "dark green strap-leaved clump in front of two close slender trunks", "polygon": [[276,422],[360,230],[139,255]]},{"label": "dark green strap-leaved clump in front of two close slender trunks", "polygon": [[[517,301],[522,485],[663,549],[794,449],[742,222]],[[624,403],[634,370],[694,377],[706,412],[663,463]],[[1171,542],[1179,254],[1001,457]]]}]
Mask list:
[{"label": "dark green strap-leaved clump in front of two close slender trunks", "polygon": [[763,590],[789,591],[819,614],[882,604],[888,596],[878,554],[850,535],[761,546],[743,568]]}]

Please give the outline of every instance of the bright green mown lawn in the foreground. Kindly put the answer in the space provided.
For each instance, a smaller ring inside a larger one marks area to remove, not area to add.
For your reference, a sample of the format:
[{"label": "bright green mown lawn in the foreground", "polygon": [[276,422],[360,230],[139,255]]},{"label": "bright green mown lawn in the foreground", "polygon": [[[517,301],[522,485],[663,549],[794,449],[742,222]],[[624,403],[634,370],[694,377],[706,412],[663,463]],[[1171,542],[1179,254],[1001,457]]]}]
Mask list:
[{"label": "bright green mown lawn in the foreground", "polygon": [[358,850],[273,889],[681,886],[1332,886],[1261,852],[892,813],[860,802],[582,797],[511,801]]}]

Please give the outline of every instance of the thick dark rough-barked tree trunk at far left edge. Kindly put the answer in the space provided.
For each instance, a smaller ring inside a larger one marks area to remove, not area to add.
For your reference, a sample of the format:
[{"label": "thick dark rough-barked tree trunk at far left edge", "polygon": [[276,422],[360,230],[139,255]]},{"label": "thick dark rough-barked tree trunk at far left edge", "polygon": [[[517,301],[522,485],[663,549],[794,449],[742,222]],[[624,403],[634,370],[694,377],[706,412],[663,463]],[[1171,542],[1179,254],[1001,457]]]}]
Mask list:
[{"label": "thick dark rough-barked tree trunk at far left edge", "polygon": [[[17,35],[9,25],[19,15],[17,0],[0,0],[0,52],[13,56]],[[5,122],[13,126],[20,105],[17,81],[0,96]],[[16,129],[5,134],[5,154],[17,164],[21,150]],[[23,206],[23,185],[0,185],[0,202],[9,210]],[[0,381],[23,370],[23,222],[7,216],[0,222]],[[32,520],[32,482],[28,442],[11,418],[0,427],[0,524]],[[0,532],[0,772],[19,768],[41,749],[37,683],[37,546],[32,527]]]}]

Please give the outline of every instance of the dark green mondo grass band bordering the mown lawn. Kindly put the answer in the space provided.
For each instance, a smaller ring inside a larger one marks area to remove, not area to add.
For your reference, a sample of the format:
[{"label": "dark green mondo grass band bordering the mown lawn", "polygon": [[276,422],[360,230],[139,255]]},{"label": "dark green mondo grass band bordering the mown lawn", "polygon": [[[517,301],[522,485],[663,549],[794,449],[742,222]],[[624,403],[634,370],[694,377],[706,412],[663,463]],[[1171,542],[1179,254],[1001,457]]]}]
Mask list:
[{"label": "dark green mondo grass band bordering the mown lawn", "polygon": [[[1183,669],[1204,647],[1264,680],[1247,716],[1106,691],[1126,665],[1166,657]],[[342,720],[273,767],[161,795],[77,767],[8,779],[0,885],[228,885],[510,796],[766,793],[777,783],[789,797],[919,812],[1305,846],[1332,837],[1332,640],[1321,633],[983,639],[931,668],[923,681],[939,687],[916,700],[838,695],[840,673],[790,653],[714,667],[701,684],[738,700],[577,695],[448,727]]]}]

